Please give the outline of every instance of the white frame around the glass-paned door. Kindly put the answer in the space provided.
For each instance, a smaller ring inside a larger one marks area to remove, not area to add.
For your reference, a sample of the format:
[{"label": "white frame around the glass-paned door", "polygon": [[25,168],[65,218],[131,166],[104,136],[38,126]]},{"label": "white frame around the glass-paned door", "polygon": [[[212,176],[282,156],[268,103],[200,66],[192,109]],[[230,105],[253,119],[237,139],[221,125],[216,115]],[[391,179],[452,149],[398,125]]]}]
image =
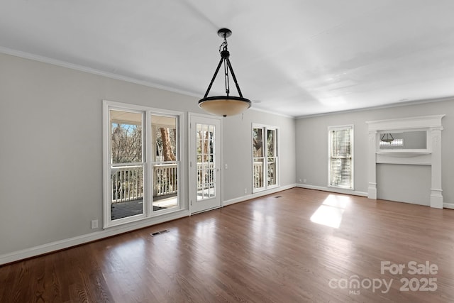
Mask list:
[{"label": "white frame around the glass-paned door", "polygon": [[[216,141],[217,144],[219,145],[219,150],[220,153],[217,157],[218,160],[218,168],[219,168],[219,176],[220,179],[218,180],[218,188],[216,194],[219,194],[219,199],[221,199],[221,204],[219,207],[223,207],[223,119],[222,117],[219,116],[213,116],[213,115],[208,115],[208,114],[196,114],[192,112],[188,112],[188,119],[187,119],[187,138],[188,138],[188,162],[187,162],[187,168],[188,168],[188,186],[189,186],[189,199],[188,199],[188,204],[189,204],[189,214],[196,214],[199,212],[203,211],[197,211],[196,213],[193,213],[192,211],[192,200],[196,199],[196,190],[195,190],[195,185],[196,185],[196,180],[192,178],[191,173],[192,173],[192,148],[195,148],[194,143],[192,142],[192,123],[194,118],[204,118],[204,119],[215,119],[219,121],[219,129],[218,133],[216,134]],[[195,127],[195,126],[194,126]],[[209,211],[211,209],[206,209],[204,211]]]}]

